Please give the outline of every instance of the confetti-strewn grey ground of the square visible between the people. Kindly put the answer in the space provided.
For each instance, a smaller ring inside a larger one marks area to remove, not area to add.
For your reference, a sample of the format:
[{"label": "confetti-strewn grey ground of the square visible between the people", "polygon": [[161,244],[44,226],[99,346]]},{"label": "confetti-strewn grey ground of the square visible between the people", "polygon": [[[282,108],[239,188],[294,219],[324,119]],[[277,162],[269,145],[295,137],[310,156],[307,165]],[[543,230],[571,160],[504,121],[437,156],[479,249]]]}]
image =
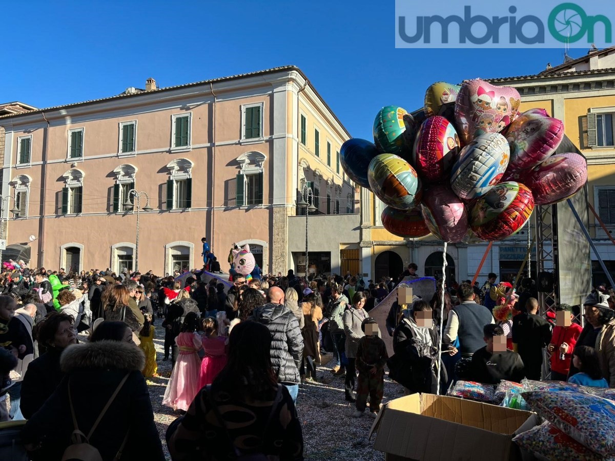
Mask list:
[{"label": "confetti-strewn grey ground of the square visible between the people", "polygon": [[[171,374],[171,361],[163,361],[164,331],[161,320],[156,323],[158,373],[160,378],[148,379],[149,393],[154,408],[154,420],[162,439],[162,447],[170,459],[164,435],[169,424],[178,416],[172,408],[162,405],[162,397]],[[344,400],[344,379],[334,377],[329,370],[332,364],[317,368],[319,382],[300,385],[297,413],[303,428],[304,457],[308,460],[384,460],[384,453],[373,449],[373,439],[367,435],[373,419],[367,413],[353,418],[354,404]],[[403,388],[385,377],[384,402],[403,395]]]}]

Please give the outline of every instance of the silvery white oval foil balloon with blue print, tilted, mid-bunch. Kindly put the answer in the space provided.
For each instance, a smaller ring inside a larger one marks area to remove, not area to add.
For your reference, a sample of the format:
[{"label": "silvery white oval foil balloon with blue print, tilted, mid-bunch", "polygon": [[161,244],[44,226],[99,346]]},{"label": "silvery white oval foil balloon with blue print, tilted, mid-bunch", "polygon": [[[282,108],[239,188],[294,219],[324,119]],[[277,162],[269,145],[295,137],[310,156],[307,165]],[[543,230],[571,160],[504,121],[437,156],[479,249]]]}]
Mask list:
[{"label": "silvery white oval foil balloon with blue print, tilted, mid-bunch", "polygon": [[499,133],[487,133],[470,141],[453,166],[453,192],[463,200],[486,194],[506,171],[509,149],[506,138]]}]

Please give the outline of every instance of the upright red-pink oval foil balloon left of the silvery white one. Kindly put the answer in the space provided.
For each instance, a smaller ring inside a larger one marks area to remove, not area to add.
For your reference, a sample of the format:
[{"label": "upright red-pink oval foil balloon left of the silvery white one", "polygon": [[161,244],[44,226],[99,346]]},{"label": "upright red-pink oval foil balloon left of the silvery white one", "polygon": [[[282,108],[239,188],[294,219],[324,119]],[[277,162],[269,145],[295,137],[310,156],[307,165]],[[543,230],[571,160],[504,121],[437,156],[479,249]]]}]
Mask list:
[{"label": "upright red-pink oval foil balloon left of the silvery white one", "polygon": [[437,182],[444,178],[459,152],[459,137],[444,117],[429,117],[416,135],[411,164],[421,178]]}]

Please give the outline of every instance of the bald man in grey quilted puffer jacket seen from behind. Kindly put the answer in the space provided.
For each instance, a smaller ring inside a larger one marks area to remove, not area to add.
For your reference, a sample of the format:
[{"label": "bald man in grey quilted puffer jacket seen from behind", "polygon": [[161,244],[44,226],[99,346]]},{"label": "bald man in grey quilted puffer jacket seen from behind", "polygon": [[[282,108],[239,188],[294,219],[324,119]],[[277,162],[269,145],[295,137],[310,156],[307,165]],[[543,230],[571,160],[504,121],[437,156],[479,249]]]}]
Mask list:
[{"label": "bald man in grey quilted puffer jacket seen from behind", "polygon": [[288,388],[296,401],[299,393],[299,368],[303,355],[303,336],[295,314],[284,305],[284,291],[272,286],[267,293],[267,304],[256,307],[248,320],[258,321],[271,333],[271,364],[277,380]]}]

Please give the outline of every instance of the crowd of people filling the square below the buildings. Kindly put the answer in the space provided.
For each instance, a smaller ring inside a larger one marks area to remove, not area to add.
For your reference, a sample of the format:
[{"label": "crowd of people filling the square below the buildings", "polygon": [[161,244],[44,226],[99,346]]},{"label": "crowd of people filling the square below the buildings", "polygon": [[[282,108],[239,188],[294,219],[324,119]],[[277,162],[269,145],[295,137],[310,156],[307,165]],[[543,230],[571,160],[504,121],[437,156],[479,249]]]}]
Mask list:
[{"label": "crowd of people filling the square below the buildings", "polygon": [[[517,296],[495,274],[482,289],[440,283],[430,300],[394,302],[384,332],[393,339],[389,357],[370,310],[417,270],[410,264],[395,281],[367,283],[351,274],[306,280],[293,270],[250,280],[236,274],[229,288],[197,271],[156,277],[14,267],[0,277],[0,420],[27,419],[22,437],[33,460],[61,459],[77,443],[102,459],[164,459],[145,379],[158,377],[159,360],[170,360],[162,403],[178,414],[166,434],[172,459],[207,452],[207,459],[300,460],[298,390],[322,379],[325,353],[354,417],[378,414],[386,368],[407,394],[446,393],[458,379],[498,384],[549,373],[615,387],[608,294],[587,296],[581,327],[571,307],[541,315],[531,284]],[[162,358],[156,321],[164,329]],[[250,417],[237,425],[237,414]]]}]

